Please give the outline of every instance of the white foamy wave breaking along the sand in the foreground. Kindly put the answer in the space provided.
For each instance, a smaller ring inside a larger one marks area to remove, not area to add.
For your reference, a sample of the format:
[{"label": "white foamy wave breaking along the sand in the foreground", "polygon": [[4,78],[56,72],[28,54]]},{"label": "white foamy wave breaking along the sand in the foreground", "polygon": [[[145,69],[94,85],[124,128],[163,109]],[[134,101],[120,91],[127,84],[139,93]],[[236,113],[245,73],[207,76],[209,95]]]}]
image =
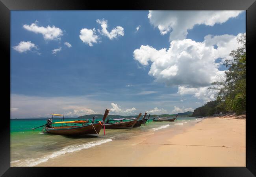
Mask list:
[{"label": "white foamy wave breaking along the sand in the foreground", "polygon": [[[90,147],[98,146],[100,144],[104,144],[104,143],[110,142],[110,141],[112,141],[112,139],[109,138],[109,139],[89,142],[89,143],[86,143],[86,144],[71,145],[71,146],[64,147],[63,149],[61,149],[59,151],[56,151],[56,152],[53,152],[49,155],[45,155],[41,158],[35,158],[35,159],[30,158],[30,159],[25,159],[25,160],[15,160],[15,161],[12,161],[11,164],[13,164],[13,166],[27,166],[27,167],[36,166],[38,164],[46,162],[48,159],[58,157],[59,155],[63,155],[63,154],[66,154],[66,153],[72,153],[74,151],[80,151],[82,149],[88,149]],[[16,163],[16,162],[19,162],[19,163]]]}]

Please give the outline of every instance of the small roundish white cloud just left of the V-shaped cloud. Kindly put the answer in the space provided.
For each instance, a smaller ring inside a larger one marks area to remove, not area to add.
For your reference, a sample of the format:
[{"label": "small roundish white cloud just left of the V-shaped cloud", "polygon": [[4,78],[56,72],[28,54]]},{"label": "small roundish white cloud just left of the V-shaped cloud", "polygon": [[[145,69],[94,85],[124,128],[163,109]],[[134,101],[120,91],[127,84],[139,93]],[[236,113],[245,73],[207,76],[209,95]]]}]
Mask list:
[{"label": "small roundish white cloud just left of the V-shaped cloud", "polygon": [[97,43],[98,40],[98,35],[96,35],[95,28],[93,28],[93,30],[83,28],[82,30],[80,30],[79,37],[83,41],[83,43],[88,44],[89,46],[93,46],[93,43]]}]

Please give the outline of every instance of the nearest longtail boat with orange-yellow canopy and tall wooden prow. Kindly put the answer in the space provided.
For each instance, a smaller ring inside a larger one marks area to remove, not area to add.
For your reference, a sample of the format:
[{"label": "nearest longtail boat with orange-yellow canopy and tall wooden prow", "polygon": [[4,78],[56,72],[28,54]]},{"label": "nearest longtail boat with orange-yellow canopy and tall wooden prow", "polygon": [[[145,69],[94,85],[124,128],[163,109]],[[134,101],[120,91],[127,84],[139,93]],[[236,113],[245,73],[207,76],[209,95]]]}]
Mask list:
[{"label": "nearest longtail boat with orange-yellow canopy and tall wooden prow", "polygon": [[[63,121],[52,122],[52,119],[48,119],[42,132],[52,133],[56,135],[88,135],[88,136],[98,136],[103,122],[107,118],[109,110],[106,109],[105,114],[100,122],[94,122],[94,119],[89,122],[89,120],[74,120],[74,121],[64,121],[64,115],[52,114],[53,116],[63,116]],[[54,126],[56,124],[61,124],[60,126]],[[38,127],[37,127],[38,128]]]}]

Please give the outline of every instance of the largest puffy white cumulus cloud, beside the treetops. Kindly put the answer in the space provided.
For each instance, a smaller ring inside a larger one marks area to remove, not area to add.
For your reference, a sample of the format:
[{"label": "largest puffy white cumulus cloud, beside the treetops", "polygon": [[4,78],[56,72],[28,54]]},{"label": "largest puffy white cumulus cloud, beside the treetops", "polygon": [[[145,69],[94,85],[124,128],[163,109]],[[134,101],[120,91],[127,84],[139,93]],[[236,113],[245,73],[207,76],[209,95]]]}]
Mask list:
[{"label": "largest puffy white cumulus cloud, beside the treetops", "polygon": [[148,74],[157,82],[178,86],[179,94],[194,94],[198,99],[212,100],[214,92],[207,88],[224,77],[216,60],[230,59],[231,50],[241,46],[237,42],[241,35],[207,35],[203,42],[191,39],[172,41],[168,50],[142,45],[134,50],[134,59],[143,66],[150,64]]}]

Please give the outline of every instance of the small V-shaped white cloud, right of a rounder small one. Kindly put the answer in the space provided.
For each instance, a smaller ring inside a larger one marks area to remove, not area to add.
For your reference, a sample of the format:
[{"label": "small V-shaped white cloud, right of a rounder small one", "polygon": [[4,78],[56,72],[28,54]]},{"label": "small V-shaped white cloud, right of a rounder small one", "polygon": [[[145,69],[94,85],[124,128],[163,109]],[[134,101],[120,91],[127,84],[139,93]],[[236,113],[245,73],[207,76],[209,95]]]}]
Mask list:
[{"label": "small V-shaped white cloud, right of a rounder small one", "polygon": [[116,28],[113,28],[113,30],[110,31],[110,33],[108,32],[107,28],[108,28],[108,20],[104,20],[104,18],[102,20],[97,19],[96,22],[98,24],[100,24],[102,30],[98,30],[102,35],[107,36],[110,40],[114,39],[114,38],[118,38],[120,36],[124,36],[124,28],[122,28],[122,26],[117,26]]}]

